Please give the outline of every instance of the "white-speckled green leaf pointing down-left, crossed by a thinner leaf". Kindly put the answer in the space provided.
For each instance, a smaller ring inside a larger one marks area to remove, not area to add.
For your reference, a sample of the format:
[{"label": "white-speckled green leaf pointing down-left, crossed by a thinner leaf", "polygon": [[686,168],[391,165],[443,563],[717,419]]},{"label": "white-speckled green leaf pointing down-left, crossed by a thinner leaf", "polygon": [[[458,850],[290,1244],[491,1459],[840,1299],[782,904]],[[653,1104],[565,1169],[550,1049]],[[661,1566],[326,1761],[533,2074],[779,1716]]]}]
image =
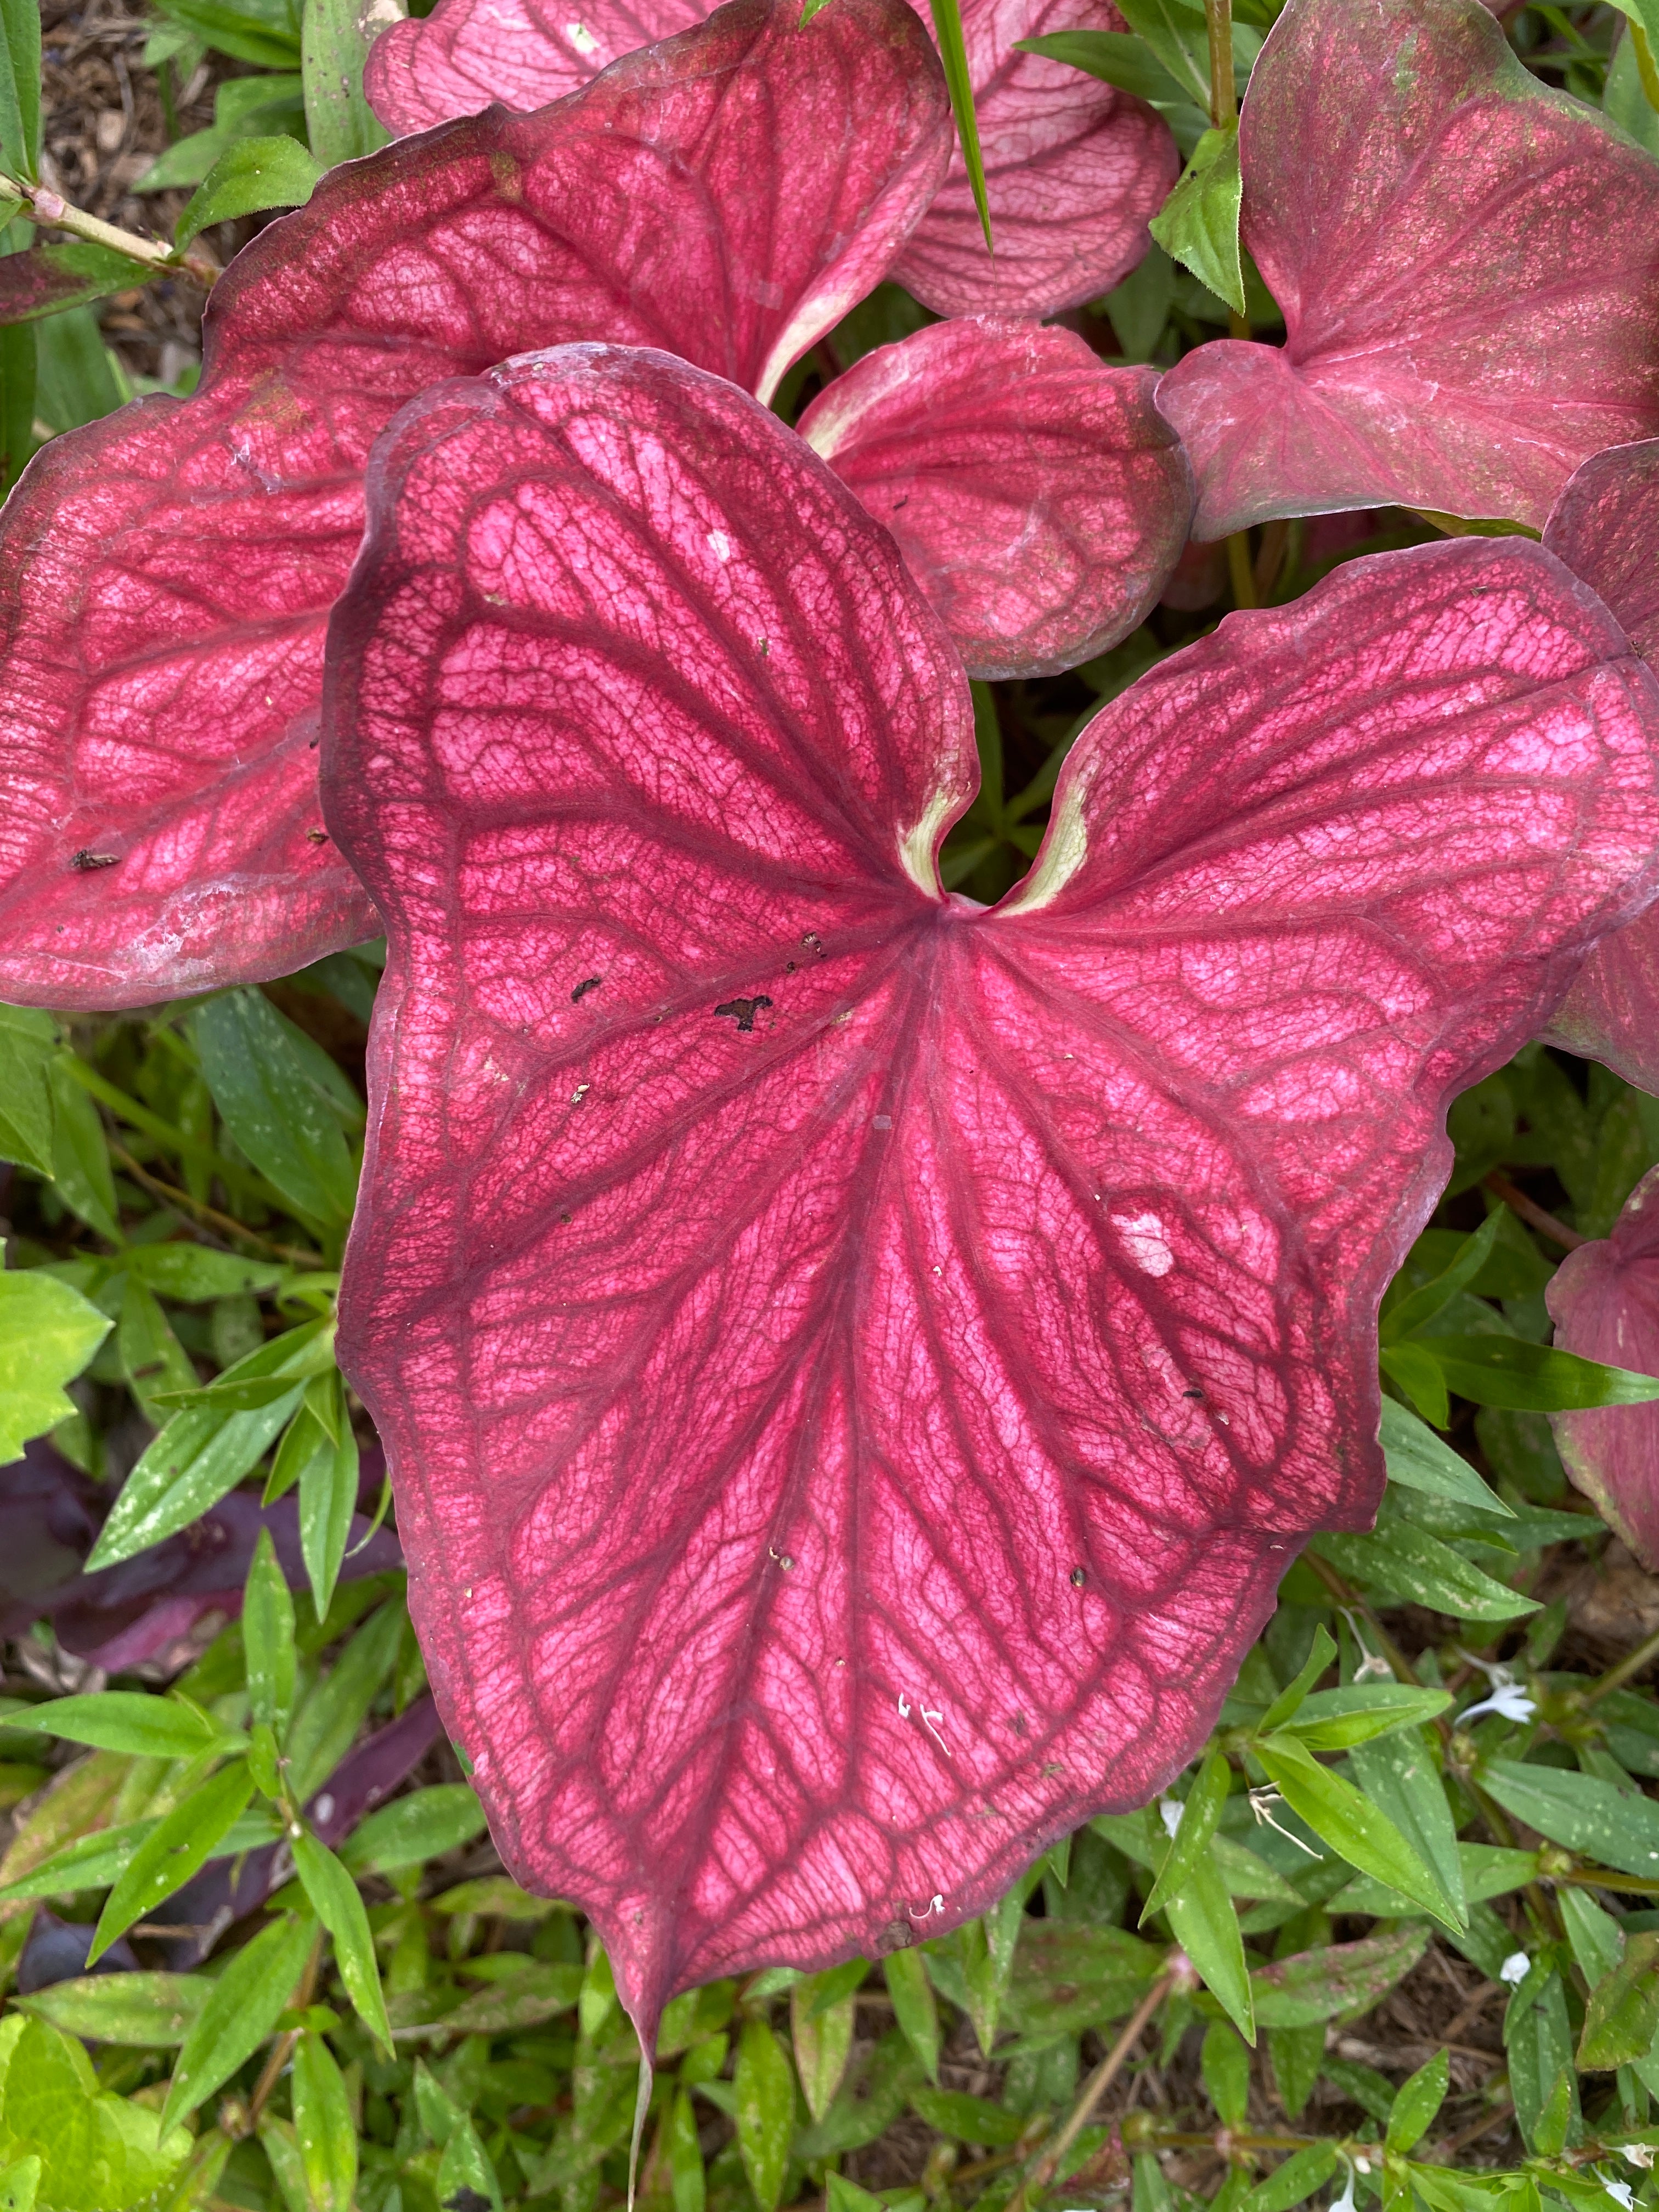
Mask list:
[{"label": "white-speckled green leaf pointing down-left, crossed by a thinner leaf", "polygon": [[86,1566],[115,1566],[188,1528],[259,1464],[299,1407],[307,1378],[332,1360],[334,1325],[307,1321],[228,1367],[221,1383],[283,1376],[290,1387],[250,1411],[208,1402],[175,1413],[126,1478]]}]

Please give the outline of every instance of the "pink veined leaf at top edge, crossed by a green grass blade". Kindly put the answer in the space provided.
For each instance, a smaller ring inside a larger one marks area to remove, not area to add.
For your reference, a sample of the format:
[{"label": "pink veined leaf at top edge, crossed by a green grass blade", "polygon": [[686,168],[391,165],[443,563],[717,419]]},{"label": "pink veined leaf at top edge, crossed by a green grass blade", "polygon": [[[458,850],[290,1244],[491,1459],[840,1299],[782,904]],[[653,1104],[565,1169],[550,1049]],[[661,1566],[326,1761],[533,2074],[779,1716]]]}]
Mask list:
[{"label": "pink veined leaf at top edge, crossed by a green grass blade", "polygon": [[1048,31],[1121,29],[1110,0],[962,0],[995,254],[958,150],[896,270],[916,299],[938,314],[1057,314],[1146,257],[1148,217],[1181,168],[1168,124],[1082,69],[1013,51]]}]

